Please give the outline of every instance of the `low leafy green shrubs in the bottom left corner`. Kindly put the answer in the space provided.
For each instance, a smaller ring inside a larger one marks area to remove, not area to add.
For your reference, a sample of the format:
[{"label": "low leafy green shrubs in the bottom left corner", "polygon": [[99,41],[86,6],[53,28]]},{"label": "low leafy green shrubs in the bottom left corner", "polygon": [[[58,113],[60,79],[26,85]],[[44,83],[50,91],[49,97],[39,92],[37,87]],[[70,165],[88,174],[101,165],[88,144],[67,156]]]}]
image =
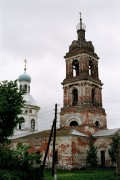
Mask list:
[{"label": "low leafy green shrubs in the bottom left corner", "polygon": [[5,146],[0,147],[1,180],[36,179],[35,165],[40,166],[40,154],[36,152],[29,153],[30,148],[30,146],[21,143],[14,150]]}]

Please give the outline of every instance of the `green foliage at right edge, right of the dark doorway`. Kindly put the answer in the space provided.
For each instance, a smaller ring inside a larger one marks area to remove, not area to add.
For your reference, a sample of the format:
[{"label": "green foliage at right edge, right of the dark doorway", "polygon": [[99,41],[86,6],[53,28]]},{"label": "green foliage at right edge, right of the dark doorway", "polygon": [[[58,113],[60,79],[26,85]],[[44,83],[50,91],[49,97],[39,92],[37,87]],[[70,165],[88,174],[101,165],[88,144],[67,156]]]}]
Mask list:
[{"label": "green foliage at right edge, right of the dark doorway", "polygon": [[120,144],[120,135],[115,135],[112,138],[111,147],[109,149],[109,155],[112,162],[116,162],[116,154],[118,153],[118,144]]}]

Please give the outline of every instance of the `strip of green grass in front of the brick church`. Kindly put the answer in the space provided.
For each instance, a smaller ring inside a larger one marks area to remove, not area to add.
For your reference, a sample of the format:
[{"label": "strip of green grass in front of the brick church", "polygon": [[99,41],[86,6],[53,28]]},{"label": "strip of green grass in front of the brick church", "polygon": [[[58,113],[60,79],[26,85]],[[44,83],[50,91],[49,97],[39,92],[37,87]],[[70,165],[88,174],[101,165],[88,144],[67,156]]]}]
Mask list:
[{"label": "strip of green grass in front of the brick church", "polygon": [[[51,170],[45,170],[45,180],[53,180]],[[120,180],[115,169],[86,169],[79,171],[57,171],[57,180]]]}]

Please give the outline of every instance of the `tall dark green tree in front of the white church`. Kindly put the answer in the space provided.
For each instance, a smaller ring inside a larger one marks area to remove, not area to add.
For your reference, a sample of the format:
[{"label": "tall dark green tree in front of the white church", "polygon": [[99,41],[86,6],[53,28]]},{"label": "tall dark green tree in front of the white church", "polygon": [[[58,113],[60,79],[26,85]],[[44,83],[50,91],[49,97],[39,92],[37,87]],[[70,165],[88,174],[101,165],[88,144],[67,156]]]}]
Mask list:
[{"label": "tall dark green tree in front of the white church", "polygon": [[23,92],[18,89],[17,80],[0,83],[0,143],[13,135],[19,123],[18,115],[22,112]]}]

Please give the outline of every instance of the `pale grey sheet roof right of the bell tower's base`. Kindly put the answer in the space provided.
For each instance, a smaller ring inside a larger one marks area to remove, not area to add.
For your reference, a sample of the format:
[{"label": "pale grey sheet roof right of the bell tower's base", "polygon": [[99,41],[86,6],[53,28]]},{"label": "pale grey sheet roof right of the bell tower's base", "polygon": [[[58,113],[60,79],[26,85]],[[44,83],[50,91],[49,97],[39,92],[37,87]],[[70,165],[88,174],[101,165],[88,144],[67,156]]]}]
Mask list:
[{"label": "pale grey sheet roof right of the bell tower's base", "polygon": [[120,128],[115,128],[115,129],[105,129],[105,130],[100,130],[96,132],[93,137],[104,137],[104,136],[113,136],[116,134]]}]

